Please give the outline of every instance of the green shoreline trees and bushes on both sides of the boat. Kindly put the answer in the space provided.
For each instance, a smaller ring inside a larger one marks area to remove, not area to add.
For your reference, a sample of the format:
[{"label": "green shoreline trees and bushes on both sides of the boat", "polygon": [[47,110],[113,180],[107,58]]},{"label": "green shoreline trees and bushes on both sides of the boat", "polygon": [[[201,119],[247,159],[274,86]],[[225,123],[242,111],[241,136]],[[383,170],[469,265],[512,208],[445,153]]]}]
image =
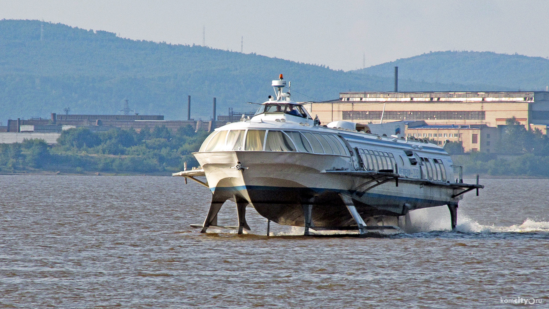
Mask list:
[{"label": "green shoreline trees and bushes on both sides of the boat", "polygon": [[[182,171],[184,162],[198,166],[192,153],[208,134],[189,125],[176,132],[165,126],[107,132],[71,128],[56,145],[41,139],[0,144],[0,174],[171,175]],[[464,153],[458,142],[445,145],[453,163],[463,166],[464,178],[549,178],[549,138],[539,130],[508,119],[494,149],[497,153]]]}]

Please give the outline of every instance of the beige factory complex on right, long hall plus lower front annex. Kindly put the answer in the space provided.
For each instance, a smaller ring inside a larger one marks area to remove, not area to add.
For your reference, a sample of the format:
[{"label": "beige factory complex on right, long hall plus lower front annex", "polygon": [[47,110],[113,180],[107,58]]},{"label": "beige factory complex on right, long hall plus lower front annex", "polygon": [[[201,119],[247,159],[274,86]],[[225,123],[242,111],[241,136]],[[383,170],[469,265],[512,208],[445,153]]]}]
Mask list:
[{"label": "beige factory complex on right, long hall plus lower front annex", "polygon": [[[339,99],[308,104],[323,123],[407,122],[405,136],[460,141],[465,151],[490,152],[506,120],[547,132],[549,92],[342,92]],[[419,125],[414,122],[422,120]]]}]

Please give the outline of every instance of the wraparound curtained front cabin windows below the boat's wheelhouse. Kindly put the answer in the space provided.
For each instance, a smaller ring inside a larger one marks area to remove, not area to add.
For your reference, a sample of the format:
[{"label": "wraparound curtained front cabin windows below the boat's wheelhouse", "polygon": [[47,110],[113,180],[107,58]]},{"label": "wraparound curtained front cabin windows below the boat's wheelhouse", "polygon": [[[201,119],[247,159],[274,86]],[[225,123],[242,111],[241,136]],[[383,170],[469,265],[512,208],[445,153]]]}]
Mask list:
[{"label": "wraparound curtained front cabin windows below the boat's wheelhouse", "polygon": [[340,139],[332,134],[278,130],[215,131],[199,151],[299,151],[349,156]]}]

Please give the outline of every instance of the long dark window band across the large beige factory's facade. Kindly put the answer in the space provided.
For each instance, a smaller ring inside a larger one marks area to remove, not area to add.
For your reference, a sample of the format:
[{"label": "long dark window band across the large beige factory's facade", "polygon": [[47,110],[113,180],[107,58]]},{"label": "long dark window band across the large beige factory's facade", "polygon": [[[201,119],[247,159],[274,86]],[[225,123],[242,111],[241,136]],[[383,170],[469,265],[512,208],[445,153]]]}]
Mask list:
[{"label": "long dark window band across the large beige factory's facade", "polygon": [[345,110],[344,120],[486,120],[485,111],[365,111]]}]

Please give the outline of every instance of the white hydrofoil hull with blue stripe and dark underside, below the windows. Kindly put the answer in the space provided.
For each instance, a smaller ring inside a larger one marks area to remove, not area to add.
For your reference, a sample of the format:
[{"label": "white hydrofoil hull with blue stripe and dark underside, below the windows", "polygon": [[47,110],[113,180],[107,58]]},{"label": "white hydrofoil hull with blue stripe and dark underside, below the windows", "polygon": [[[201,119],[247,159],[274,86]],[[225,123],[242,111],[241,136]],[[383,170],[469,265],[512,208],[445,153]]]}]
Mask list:
[{"label": "white hydrofoil hull with blue stripe and dark underside, below the windows", "polygon": [[[368,223],[376,217],[457,204],[459,189],[418,179],[388,179],[368,190],[375,176],[350,172],[350,158],[339,155],[274,151],[219,151],[194,154],[203,167],[214,200],[238,199],[261,216],[305,226],[304,206],[312,205],[312,226],[356,226],[341,194],[349,196]],[[240,162],[242,169],[234,168]],[[349,171],[349,172],[347,172]],[[382,178],[379,178],[382,179]],[[372,182],[376,184],[377,182]],[[217,196],[217,198],[215,198]]]}]

